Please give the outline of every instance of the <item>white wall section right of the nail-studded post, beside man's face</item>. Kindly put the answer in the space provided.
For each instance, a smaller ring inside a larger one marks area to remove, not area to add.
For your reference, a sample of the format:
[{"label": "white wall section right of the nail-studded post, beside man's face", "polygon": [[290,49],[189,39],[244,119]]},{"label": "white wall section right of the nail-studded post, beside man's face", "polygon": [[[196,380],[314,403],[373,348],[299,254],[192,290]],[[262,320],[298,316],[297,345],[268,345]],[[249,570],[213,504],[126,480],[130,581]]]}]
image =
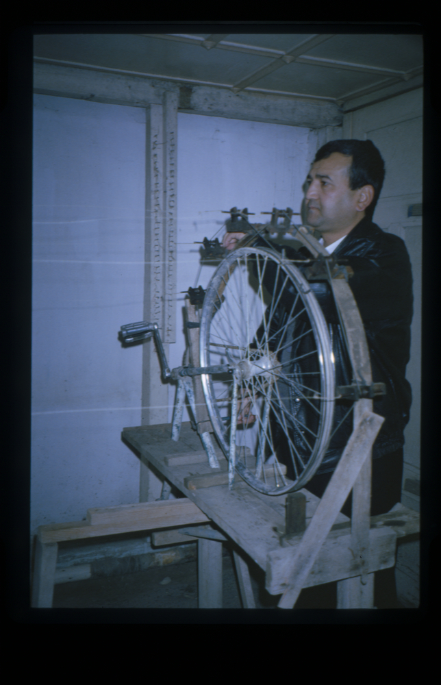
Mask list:
[{"label": "white wall section right of the nail-studded post, beside man's face", "polygon": [[[234,206],[255,212],[252,223],[268,220],[260,212],[273,207],[299,212],[310,164],[309,134],[303,127],[178,113],[177,343],[170,345],[172,368],[182,364],[185,350],[181,291],[205,288],[215,268],[199,271],[200,246],[194,241],[216,234],[221,241],[229,215],[220,210]],[[174,401],[175,386],[170,386],[169,421]]]}]

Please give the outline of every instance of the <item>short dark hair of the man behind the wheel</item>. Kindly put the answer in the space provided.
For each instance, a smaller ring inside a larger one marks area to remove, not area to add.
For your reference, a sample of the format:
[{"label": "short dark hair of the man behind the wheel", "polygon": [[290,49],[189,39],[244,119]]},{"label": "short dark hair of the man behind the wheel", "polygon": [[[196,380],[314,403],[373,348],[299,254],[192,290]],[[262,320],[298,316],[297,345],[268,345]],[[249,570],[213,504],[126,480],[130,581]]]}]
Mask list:
[{"label": "short dark hair of the man behind the wheel", "polygon": [[349,188],[357,190],[363,186],[373,186],[374,199],[365,214],[372,219],[384,180],[384,162],[372,140],[330,140],[320,147],[315,162],[327,159],[333,152],[352,157],[349,169]]}]

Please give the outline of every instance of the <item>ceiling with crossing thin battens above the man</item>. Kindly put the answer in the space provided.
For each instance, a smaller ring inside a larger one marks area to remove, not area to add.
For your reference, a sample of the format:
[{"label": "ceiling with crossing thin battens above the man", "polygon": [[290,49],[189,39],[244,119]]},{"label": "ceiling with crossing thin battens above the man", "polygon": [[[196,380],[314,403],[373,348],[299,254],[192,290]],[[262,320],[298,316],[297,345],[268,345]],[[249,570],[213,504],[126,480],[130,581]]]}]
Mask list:
[{"label": "ceiling with crossing thin battens above the man", "polygon": [[[38,62],[251,91],[338,105],[423,74],[412,34],[51,34]],[[400,92],[400,88],[398,88]]]}]

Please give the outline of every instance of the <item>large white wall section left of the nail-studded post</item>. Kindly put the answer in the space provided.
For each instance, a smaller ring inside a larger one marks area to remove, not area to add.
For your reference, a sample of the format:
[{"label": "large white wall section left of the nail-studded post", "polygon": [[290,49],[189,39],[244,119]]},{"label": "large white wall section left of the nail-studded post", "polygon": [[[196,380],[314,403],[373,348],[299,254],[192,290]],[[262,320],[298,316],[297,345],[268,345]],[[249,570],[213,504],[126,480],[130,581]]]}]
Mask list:
[{"label": "large white wall section left of the nail-studded post", "polygon": [[145,110],[35,96],[31,532],[138,501]]}]

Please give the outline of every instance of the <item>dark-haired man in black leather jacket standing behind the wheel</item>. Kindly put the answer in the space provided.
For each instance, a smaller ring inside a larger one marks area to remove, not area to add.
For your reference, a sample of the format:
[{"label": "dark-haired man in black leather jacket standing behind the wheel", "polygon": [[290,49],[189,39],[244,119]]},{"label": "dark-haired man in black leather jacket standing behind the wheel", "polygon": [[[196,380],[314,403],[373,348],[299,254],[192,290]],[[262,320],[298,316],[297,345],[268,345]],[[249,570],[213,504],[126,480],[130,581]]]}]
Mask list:
[{"label": "dark-haired man in black leather jacket standing behind the wheel", "polygon": [[[373,382],[386,384],[386,395],[373,401],[374,412],[385,417],[373,447],[371,516],[386,513],[401,499],[403,430],[412,400],[405,368],[409,361],[412,321],[412,271],[401,238],[383,232],[372,221],[383,185],[384,163],[370,140],[333,140],[321,147],[306,180],[306,223],[321,234],[321,242],[336,259],[352,267],[349,285],[364,322]],[[234,249],[243,234],[226,234],[223,245]],[[279,249],[276,245],[275,249]],[[305,248],[286,249],[292,259],[310,257]],[[297,264],[299,266],[299,264]],[[344,341],[329,285],[311,282],[323,309],[336,360],[336,382],[351,382]],[[348,380],[349,378],[349,380]],[[239,421],[255,420],[242,401]],[[346,413],[336,401],[334,426]],[[343,421],[307,489],[318,497],[325,492],[352,431],[352,416]],[[351,495],[342,512],[351,516]]]}]

